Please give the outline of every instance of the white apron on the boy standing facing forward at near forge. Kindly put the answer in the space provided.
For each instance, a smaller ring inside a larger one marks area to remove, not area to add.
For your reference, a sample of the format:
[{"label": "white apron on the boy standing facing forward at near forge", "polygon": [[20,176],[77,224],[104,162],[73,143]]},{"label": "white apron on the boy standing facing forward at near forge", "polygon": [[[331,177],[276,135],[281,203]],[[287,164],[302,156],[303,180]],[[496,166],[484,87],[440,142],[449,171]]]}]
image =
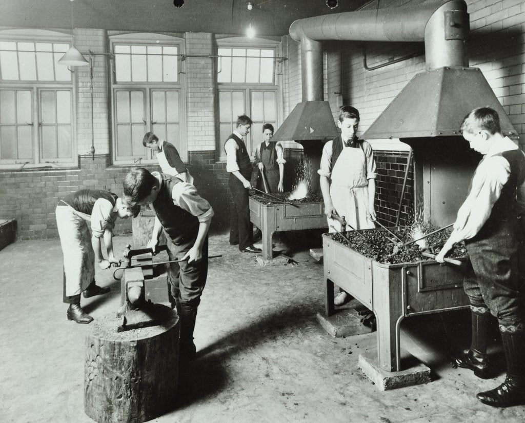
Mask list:
[{"label": "white apron on the boy standing facing forward at near forge", "polygon": [[[341,140],[339,140],[341,142]],[[366,157],[363,150],[344,147],[332,168],[330,197],[335,211],[355,229],[375,228],[374,222],[366,218],[368,210],[368,180],[366,179]],[[341,230],[339,221],[328,218],[329,231],[333,225]],[[346,230],[351,230],[346,227]]]}]

